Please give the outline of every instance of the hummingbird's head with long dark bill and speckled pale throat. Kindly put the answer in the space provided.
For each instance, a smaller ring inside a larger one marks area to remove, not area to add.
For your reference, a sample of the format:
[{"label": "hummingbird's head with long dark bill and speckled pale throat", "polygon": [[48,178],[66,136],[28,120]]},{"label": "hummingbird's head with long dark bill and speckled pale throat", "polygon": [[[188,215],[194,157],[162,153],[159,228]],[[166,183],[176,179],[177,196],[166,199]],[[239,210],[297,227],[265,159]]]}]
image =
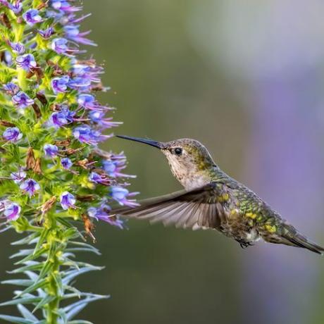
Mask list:
[{"label": "hummingbird's head with long dark bill and speckled pale throat", "polygon": [[210,182],[211,169],[216,166],[206,147],[196,139],[176,139],[170,142],[156,142],[151,139],[117,137],[141,142],[160,149],[168,159],[173,175],[186,189],[201,187]]}]

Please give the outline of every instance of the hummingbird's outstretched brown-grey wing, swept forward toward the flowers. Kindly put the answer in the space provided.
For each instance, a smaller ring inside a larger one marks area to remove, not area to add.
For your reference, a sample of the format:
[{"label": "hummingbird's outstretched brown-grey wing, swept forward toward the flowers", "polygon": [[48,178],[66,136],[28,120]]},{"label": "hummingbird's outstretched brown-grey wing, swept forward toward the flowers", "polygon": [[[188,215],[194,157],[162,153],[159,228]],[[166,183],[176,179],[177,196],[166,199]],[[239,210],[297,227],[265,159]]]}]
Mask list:
[{"label": "hummingbird's outstretched brown-grey wing, swept forward toward the flowers", "polygon": [[177,228],[216,228],[225,220],[225,211],[217,202],[215,185],[205,185],[190,192],[180,191],[140,201],[135,208],[117,208],[111,213],[127,218],[148,219]]}]

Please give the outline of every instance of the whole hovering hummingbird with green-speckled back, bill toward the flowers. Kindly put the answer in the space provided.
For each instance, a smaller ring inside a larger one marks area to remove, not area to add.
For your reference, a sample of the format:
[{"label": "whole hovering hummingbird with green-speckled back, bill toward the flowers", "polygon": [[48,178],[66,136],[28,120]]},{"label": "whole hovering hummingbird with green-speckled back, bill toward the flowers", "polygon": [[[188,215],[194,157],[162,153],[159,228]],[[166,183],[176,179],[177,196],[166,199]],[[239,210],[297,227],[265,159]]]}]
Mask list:
[{"label": "whole hovering hummingbird with green-speckled back, bill toward the flowers", "polygon": [[162,222],[176,228],[218,230],[243,248],[262,238],[270,243],[323,253],[323,247],[309,241],[257,194],[220,170],[197,140],[156,142],[118,137],[160,149],[185,190],[144,200],[135,208],[117,208],[112,211],[115,215],[149,219],[151,223]]}]

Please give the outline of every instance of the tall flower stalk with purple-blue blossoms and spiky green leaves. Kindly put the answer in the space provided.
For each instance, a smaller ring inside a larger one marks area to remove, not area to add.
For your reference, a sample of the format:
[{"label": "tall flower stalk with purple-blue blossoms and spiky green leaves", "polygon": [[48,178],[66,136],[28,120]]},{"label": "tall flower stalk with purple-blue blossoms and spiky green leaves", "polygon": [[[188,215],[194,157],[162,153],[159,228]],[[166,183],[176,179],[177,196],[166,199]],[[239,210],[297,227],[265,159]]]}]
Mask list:
[{"label": "tall flower stalk with purple-blue blossoms and spiky green leaves", "polygon": [[136,205],[125,156],[97,147],[120,123],[94,96],[106,88],[80,49],[96,45],[79,30],[81,10],[73,0],[0,0],[0,232],[25,235],[12,243],[19,278],[2,282],[20,286],[1,304],[17,306],[20,316],[0,315],[12,323],[85,323],[73,318],[108,296],[73,286],[102,269],[78,253],[99,254],[86,242],[96,221],[123,228],[113,201]]}]

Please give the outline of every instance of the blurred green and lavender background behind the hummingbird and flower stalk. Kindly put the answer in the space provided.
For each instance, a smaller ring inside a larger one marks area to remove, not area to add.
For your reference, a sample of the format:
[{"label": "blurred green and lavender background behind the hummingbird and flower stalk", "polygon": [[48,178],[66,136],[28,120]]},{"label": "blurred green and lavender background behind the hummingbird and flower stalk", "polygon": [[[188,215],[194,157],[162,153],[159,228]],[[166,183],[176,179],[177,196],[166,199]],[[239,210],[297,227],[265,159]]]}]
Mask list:
[{"label": "blurred green and lavender background behind the hummingbird and flower stalk", "polygon": [[[84,1],[104,63],[119,134],[199,139],[225,172],[324,244],[324,3],[320,0]],[[125,151],[132,191],[180,189],[157,150]],[[324,260],[260,242],[242,250],[213,231],[128,222],[96,228],[106,266],[79,287],[111,299],[83,311],[94,323],[324,323]],[[1,234],[0,278],[13,233]],[[11,287],[1,287],[1,300]]]}]

